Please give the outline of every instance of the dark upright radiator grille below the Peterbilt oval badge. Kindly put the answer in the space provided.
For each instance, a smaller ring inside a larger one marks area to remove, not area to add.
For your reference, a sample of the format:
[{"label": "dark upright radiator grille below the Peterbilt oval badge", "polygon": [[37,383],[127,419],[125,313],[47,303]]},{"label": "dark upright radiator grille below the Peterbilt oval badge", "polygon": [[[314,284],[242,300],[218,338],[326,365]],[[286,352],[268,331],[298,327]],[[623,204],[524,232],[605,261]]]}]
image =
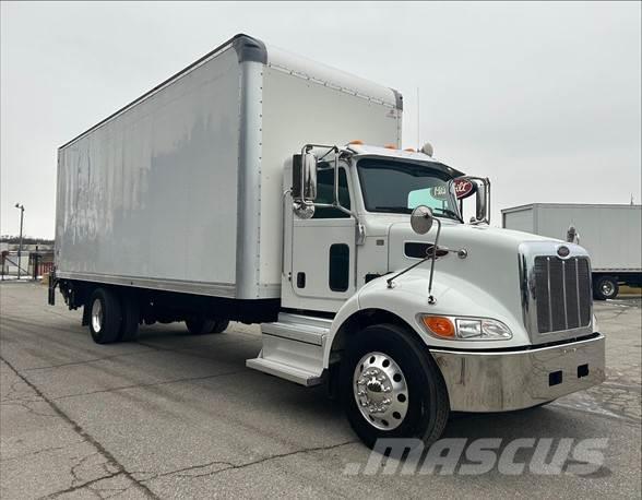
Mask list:
[{"label": "dark upright radiator grille below the Peterbilt oval badge", "polygon": [[558,332],[591,324],[591,267],[585,257],[537,255],[534,262],[537,331]]}]

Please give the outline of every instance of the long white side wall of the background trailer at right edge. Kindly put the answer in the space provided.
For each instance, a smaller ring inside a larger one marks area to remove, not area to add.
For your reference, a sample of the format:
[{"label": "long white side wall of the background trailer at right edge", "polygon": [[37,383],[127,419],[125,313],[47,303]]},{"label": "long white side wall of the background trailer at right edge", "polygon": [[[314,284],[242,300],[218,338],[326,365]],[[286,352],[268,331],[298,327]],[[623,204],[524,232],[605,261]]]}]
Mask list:
[{"label": "long white side wall of the background trailer at right edge", "polygon": [[542,205],[538,234],[564,239],[570,225],[591,255],[593,271],[640,271],[642,209],[608,205]]}]

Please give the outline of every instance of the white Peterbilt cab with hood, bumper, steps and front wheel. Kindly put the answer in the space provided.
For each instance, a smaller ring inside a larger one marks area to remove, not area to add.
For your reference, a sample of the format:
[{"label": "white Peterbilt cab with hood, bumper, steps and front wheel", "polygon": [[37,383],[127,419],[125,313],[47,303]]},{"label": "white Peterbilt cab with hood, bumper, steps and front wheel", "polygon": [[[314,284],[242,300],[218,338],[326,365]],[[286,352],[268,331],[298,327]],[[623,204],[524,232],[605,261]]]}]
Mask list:
[{"label": "white Peterbilt cab with hood, bumper, steps and front wheel", "polygon": [[248,366],[328,381],[368,444],[604,380],[586,251],[489,226],[488,179],[424,150],[306,145],[284,169],[282,309]]}]

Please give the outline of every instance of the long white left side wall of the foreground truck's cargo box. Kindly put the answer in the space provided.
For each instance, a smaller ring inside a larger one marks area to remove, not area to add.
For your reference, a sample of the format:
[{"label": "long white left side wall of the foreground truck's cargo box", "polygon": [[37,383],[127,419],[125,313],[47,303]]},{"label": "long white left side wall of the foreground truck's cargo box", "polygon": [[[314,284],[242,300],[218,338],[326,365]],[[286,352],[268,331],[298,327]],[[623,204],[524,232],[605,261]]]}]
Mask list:
[{"label": "long white left side wall of the foreground truck's cargo box", "polygon": [[227,49],[59,151],[61,276],[234,296],[239,82]]}]

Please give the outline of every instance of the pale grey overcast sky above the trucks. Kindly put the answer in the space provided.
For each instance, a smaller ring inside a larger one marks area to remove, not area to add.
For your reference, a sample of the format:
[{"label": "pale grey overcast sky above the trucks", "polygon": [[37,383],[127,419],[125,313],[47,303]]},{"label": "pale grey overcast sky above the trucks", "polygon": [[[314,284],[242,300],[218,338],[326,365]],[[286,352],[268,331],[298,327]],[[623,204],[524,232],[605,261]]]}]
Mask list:
[{"label": "pale grey overcast sky above the trucks", "polygon": [[56,150],[242,32],[404,94],[500,209],[641,193],[641,4],[1,3],[0,233],[54,236]]}]

